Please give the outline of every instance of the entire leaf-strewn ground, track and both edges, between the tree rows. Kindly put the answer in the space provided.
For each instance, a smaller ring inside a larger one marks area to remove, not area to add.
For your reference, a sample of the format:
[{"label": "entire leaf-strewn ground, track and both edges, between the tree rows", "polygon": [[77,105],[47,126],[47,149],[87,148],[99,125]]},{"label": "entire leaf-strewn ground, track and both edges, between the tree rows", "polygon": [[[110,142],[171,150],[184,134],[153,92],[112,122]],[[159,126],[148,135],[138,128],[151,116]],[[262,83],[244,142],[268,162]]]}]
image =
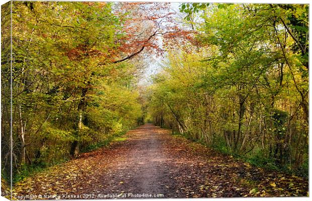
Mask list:
[{"label": "entire leaf-strewn ground, track and both edges, between the tree rows", "polygon": [[13,194],[36,199],[308,196],[308,181],[251,166],[146,124],[109,147],[18,182]]}]

